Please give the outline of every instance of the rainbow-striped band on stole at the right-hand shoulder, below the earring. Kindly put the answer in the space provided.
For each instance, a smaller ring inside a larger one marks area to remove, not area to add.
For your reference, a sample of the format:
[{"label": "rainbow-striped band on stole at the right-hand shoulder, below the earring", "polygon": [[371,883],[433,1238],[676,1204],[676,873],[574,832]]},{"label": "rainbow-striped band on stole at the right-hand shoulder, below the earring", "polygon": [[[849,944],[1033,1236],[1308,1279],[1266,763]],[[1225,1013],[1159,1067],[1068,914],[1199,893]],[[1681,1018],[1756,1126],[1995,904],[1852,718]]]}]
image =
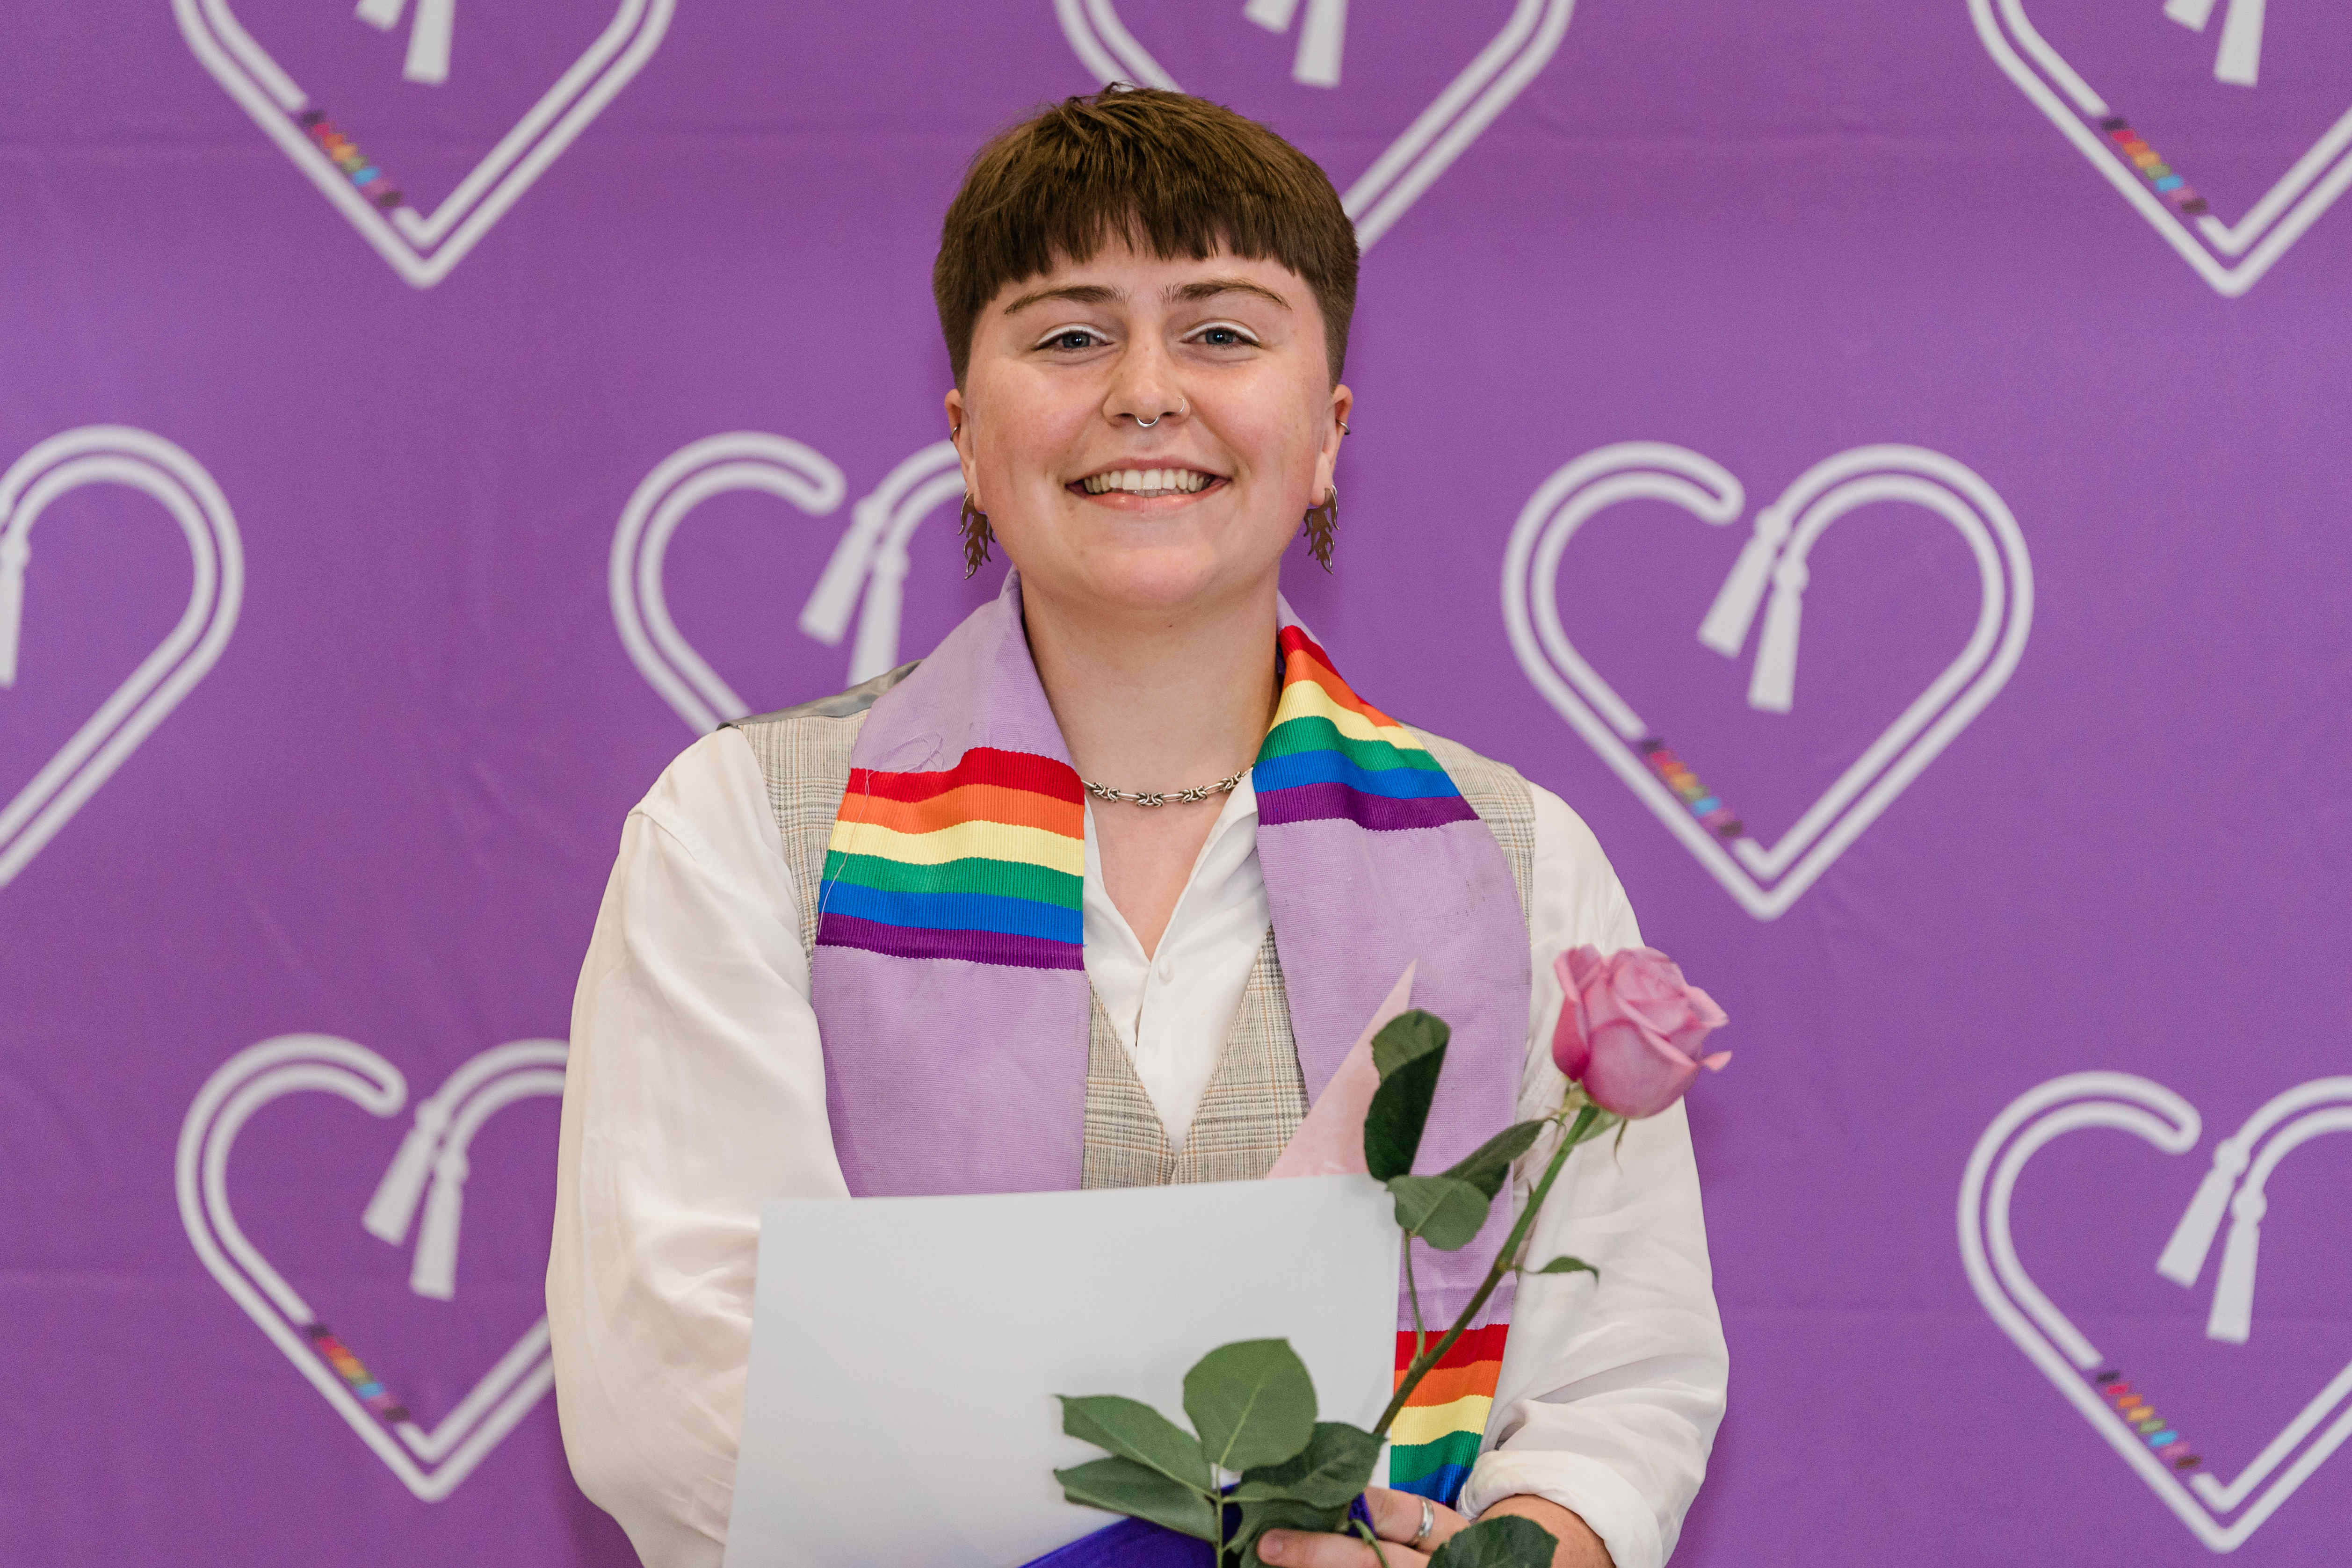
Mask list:
[{"label": "rainbow-striped band on stole at the right-hand shoulder, below the earring", "polygon": [[1477,813],[1411,731],[1348,689],[1312,637],[1282,628],[1282,701],[1251,771],[1258,823],[1345,818],[1439,827]]}]

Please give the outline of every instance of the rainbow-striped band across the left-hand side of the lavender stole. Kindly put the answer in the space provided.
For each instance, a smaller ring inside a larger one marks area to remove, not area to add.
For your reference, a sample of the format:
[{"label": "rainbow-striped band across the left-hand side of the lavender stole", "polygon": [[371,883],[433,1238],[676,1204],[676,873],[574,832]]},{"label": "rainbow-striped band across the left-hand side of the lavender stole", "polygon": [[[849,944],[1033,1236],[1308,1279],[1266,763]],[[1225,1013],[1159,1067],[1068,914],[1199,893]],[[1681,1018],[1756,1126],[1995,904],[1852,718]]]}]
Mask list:
[{"label": "rainbow-striped band across the left-hand side of the lavender stole", "polygon": [[1077,769],[974,748],[946,771],[851,769],[816,940],[901,959],[1084,969]]}]

